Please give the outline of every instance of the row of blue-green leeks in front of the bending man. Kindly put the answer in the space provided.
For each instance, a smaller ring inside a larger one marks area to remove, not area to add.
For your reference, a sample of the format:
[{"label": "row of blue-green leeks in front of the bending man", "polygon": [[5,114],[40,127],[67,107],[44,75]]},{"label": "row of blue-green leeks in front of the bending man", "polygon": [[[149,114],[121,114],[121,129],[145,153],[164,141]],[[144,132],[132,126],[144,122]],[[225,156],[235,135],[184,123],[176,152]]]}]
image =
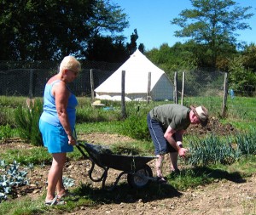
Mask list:
[{"label": "row of blue-green leeks in front of the bending man", "polygon": [[220,138],[214,134],[205,139],[193,138],[189,143],[187,162],[195,167],[231,164],[241,156],[256,155],[256,129]]}]

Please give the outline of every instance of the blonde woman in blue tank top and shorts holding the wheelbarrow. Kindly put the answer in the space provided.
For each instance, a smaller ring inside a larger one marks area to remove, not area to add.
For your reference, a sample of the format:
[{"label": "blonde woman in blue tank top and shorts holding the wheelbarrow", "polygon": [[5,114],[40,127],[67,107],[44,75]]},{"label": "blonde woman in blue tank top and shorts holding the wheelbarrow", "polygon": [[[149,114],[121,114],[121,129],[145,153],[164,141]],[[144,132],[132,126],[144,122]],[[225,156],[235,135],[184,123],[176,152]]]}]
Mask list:
[{"label": "blonde woman in blue tank top and shorts holding the wheelbarrow", "polygon": [[[44,88],[44,112],[39,121],[44,146],[52,154],[52,165],[48,174],[46,205],[63,205],[61,199],[67,195],[63,185],[62,173],[67,152],[73,151],[76,139],[73,130],[76,120],[78,100],[67,87],[79,75],[81,65],[73,56],[61,61],[60,70],[49,78]],[[56,191],[56,194],[55,194]]]}]

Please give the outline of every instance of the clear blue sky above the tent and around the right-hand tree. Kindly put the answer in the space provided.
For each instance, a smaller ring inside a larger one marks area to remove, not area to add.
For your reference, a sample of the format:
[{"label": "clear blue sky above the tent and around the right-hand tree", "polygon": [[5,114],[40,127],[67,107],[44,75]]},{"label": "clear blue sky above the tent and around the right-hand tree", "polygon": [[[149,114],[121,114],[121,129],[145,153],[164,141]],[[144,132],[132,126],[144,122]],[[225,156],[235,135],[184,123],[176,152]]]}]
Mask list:
[{"label": "clear blue sky above the tent and around the right-hand tree", "polygon": [[[256,1],[235,0],[241,7],[251,6],[249,13],[253,17],[244,20],[252,30],[237,31],[239,42],[256,43]],[[177,18],[183,9],[192,8],[190,0],[112,0],[127,14],[130,27],[124,31],[126,42],[130,42],[130,36],[137,29],[137,45],[143,43],[145,50],[160,48],[167,43],[170,47],[175,42],[185,42],[184,38],[174,37],[174,31],[180,30],[177,25],[171,25],[171,20]]]}]

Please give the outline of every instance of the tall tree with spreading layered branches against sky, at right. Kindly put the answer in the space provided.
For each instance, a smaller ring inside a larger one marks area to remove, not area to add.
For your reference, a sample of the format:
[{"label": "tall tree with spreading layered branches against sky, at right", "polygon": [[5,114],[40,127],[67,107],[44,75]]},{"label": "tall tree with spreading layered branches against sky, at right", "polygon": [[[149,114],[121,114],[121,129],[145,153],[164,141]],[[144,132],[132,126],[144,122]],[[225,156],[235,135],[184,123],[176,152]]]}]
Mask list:
[{"label": "tall tree with spreading layered branches against sky, at right", "polygon": [[202,48],[203,55],[210,57],[210,65],[216,67],[218,56],[236,46],[237,30],[250,29],[243,22],[253,16],[247,13],[252,7],[240,7],[232,0],[190,0],[192,9],[184,9],[172,25],[182,28],[176,37],[190,37]]}]

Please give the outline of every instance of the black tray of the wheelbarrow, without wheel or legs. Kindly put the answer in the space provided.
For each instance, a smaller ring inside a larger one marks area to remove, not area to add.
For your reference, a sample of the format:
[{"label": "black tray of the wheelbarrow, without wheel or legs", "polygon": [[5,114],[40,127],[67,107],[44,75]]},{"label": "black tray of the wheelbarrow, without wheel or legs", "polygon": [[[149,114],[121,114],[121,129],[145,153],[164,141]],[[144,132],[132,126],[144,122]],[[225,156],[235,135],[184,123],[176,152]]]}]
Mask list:
[{"label": "black tray of the wheelbarrow, without wheel or legs", "polygon": [[108,147],[98,144],[84,143],[90,159],[99,167],[110,167],[120,171],[135,172],[145,166],[154,156],[123,156],[115,155]]}]

